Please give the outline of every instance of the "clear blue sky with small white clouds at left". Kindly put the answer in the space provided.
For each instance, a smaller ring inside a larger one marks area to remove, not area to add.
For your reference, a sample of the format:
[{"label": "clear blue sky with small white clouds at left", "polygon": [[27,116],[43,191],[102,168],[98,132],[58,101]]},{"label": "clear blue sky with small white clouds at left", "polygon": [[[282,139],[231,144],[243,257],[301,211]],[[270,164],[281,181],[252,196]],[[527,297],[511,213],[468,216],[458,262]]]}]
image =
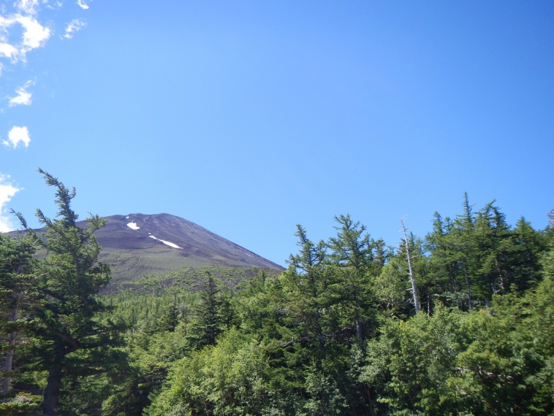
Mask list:
[{"label": "clear blue sky with small white clouds at left", "polygon": [[167,212],[272,261],[554,208],[551,1],[0,1],[0,227]]}]

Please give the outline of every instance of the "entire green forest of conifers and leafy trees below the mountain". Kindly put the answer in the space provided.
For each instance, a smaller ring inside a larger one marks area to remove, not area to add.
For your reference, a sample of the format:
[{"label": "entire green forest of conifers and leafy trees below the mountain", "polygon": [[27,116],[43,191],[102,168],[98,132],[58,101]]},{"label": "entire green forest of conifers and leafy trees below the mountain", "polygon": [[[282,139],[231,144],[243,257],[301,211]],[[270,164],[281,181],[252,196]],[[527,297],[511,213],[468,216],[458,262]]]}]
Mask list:
[{"label": "entire green forest of conifers and leafy trees below the mountain", "polygon": [[105,222],[44,176],[46,234],[0,234],[0,414],[554,414],[554,211],[510,225],[466,195],[400,245],[341,215],[326,241],[298,225],[280,275],[107,295]]}]

